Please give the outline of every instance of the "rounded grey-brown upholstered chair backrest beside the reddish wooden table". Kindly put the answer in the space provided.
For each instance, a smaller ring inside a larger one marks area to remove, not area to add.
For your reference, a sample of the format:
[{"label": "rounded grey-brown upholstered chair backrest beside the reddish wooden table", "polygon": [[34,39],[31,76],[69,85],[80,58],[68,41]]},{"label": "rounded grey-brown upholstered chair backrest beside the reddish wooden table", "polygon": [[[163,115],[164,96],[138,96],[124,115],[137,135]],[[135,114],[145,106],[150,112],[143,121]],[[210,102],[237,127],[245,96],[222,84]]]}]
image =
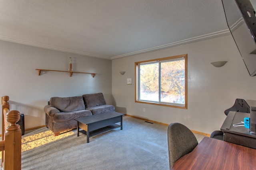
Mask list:
[{"label": "rounded grey-brown upholstered chair backrest beside the reddish wooden table", "polygon": [[191,152],[198,145],[198,141],[194,133],[181,123],[171,123],[167,135],[171,169],[176,160]]}]

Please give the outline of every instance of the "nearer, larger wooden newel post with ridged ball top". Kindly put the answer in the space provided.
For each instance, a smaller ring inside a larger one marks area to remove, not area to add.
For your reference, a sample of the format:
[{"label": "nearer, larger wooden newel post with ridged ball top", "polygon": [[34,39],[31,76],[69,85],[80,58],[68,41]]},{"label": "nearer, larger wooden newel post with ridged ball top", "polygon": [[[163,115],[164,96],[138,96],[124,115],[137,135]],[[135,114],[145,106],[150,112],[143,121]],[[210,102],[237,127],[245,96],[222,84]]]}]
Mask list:
[{"label": "nearer, larger wooden newel post with ridged ball top", "polygon": [[6,115],[6,120],[10,123],[6,127],[5,144],[4,144],[4,169],[20,170],[21,169],[21,130],[20,125],[16,122],[20,120],[20,112],[11,110]]}]

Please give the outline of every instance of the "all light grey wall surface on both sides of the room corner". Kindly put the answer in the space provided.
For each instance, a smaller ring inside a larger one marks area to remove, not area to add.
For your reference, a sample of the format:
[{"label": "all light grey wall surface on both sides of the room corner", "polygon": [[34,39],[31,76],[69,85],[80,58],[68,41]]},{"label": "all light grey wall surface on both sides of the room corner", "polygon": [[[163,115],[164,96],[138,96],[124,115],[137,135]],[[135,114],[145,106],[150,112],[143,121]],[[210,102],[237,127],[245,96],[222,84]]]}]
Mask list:
[{"label": "all light grey wall surface on both sides of the room corner", "polygon": [[[188,109],[134,102],[134,62],[186,53]],[[74,71],[98,74],[95,78],[90,74],[70,77],[65,72],[38,76],[36,68],[67,70],[68,57],[74,60]],[[52,96],[102,92],[117,111],[167,124],[180,122],[204,133],[220,129],[224,110],[236,98],[256,100],[256,77],[249,76],[231,35],[113,61],[0,41],[0,61],[0,96],[10,96],[11,109],[25,114],[25,129],[44,125],[43,108]],[[214,61],[228,63],[216,68],[210,64]],[[132,78],[133,84],[127,85],[126,78]]]}]

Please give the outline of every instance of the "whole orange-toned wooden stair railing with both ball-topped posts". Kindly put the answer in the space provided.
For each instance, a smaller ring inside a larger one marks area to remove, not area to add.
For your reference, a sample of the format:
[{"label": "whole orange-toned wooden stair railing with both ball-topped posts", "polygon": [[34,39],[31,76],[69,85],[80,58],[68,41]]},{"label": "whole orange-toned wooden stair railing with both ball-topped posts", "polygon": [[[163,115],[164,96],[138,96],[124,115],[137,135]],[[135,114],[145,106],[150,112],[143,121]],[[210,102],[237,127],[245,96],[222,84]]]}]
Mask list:
[{"label": "whole orange-toned wooden stair railing with both ball-topped posts", "polygon": [[21,129],[16,123],[20,120],[20,112],[11,110],[9,97],[2,97],[2,167],[4,170],[21,170]]}]

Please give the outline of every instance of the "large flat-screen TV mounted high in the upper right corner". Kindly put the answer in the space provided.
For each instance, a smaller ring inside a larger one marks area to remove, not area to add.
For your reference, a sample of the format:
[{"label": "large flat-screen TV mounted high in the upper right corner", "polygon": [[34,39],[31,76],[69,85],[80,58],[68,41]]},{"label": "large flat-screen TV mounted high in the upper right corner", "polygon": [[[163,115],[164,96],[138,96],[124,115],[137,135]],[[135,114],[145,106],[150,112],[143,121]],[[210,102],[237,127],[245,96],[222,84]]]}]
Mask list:
[{"label": "large flat-screen TV mounted high in the upper right corner", "polygon": [[256,76],[256,0],[222,0],[226,20],[250,76]]}]

